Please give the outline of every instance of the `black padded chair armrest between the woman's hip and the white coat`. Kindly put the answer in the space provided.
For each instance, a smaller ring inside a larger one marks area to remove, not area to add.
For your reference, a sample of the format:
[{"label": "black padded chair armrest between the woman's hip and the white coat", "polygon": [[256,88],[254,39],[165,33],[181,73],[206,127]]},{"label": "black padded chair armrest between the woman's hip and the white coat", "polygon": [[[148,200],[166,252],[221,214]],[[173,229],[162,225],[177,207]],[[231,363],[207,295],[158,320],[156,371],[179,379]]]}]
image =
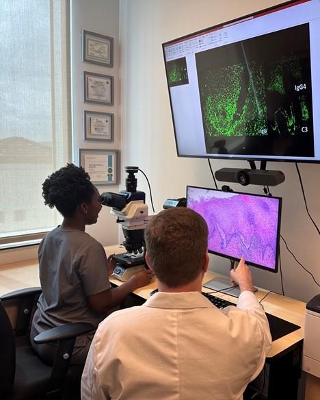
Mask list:
[{"label": "black padded chair armrest between the woman's hip and the white coat", "polygon": [[87,334],[88,332],[92,332],[94,330],[94,326],[88,322],[74,322],[74,323],[66,323],[59,327],[54,327],[48,329],[41,334],[38,334],[34,338],[34,342],[37,345],[41,345],[42,343],[53,342],[55,340],[63,340],[72,338],[78,335]]}]

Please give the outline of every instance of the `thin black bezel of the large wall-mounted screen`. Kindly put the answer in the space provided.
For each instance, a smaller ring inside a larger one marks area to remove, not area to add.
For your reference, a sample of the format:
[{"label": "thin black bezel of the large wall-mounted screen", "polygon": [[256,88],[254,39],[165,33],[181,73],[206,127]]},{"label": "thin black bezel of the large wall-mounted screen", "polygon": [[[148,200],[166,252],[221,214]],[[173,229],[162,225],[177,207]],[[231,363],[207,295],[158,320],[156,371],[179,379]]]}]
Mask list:
[{"label": "thin black bezel of the large wall-mounted screen", "polygon": [[180,42],[181,40],[185,40],[187,38],[191,38],[192,36],[198,36],[200,34],[204,34],[204,32],[210,32],[211,30],[217,30],[220,27],[223,27],[224,25],[232,24],[232,23],[237,23],[242,20],[245,20],[247,18],[250,18],[252,16],[256,16],[258,14],[265,14],[269,12],[274,12],[277,9],[281,8],[287,8],[291,7],[294,5],[302,4],[302,3],[307,3],[308,1],[311,0],[289,0],[289,1],[284,1],[283,3],[279,3],[276,5],[272,5],[271,7],[268,8],[263,8],[262,10],[258,10],[256,12],[252,12],[250,14],[245,14],[243,16],[239,16],[237,18],[230,19],[229,21],[224,21],[222,23],[212,25],[211,27],[206,27],[204,29],[200,29],[199,31],[192,32],[190,34],[180,36],[178,38],[168,40],[167,42],[162,43],[162,51],[163,51],[163,62],[165,66],[165,77],[166,77],[166,82],[167,82],[167,88],[169,92],[169,100],[170,100],[170,110],[171,110],[171,116],[172,116],[172,123],[173,123],[173,128],[174,128],[174,141],[176,145],[176,155],[177,157],[181,158],[207,158],[211,160],[243,160],[243,161],[265,161],[265,162],[302,162],[302,163],[310,163],[310,164],[319,164],[320,163],[320,158],[319,160],[301,160],[299,158],[281,158],[281,156],[277,158],[268,158],[266,157],[259,157],[258,155],[248,155],[245,157],[240,157],[239,155],[217,155],[217,154],[206,154],[206,155],[194,155],[194,154],[180,154],[178,150],[178,140],[177,140],[177,135],[176,135],[176,124],[174,123],[174,112],[173,112],[173,107],[172,107],[172,98],[171,98],[171,93],[170,93],[170,86],[168,84],[169,79],[168,79],[168,71],[166,68],[166,61],[165,61],[165,46],[172,45],[173,43]]}]

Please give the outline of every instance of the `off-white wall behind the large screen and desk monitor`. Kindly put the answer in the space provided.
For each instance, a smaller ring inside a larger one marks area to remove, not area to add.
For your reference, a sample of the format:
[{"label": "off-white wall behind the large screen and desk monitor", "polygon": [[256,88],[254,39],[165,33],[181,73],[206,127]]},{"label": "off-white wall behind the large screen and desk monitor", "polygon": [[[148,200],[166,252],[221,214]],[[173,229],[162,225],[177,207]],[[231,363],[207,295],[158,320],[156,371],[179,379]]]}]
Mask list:
[{"label": "off-white wall behind the large screen and desk monitor", "polygon": [[[207,160],[176,157],[161,44],[281,2],[282,0],[121,0],[122,166],[136,164],[148,175],[156,212],[161,210],[163,201],[168,197],[184,196],[187,184],[214,187]],[[247,168],[248,164],[212,161],[212,166],[216,170],[224,166]],[[269,163],[268,166],[271,169],[280,169],[286,175],[283,184],[271,188],[273,195],[283,197],[282,236],[297,260],[320,283],[319,234],[306,214],[295,165]],[[320,225],[320,165],[299,164],[299,167],[308,208],[317,225]],[[263,194],[261,186],[230,186],[239,191]],[[148,186],[141,174],[138,175],[138,188],[148,193]],[[150,205],[148,196],[147,201]],[[285,295],[308,301],[320,292],[312,277],[286,251],[283,242],[281,255]],[[211,268],[226,274],[229,262],[212,256]],[[281,292],[280,273],[254,269],[254,282],[257,286]]]}]

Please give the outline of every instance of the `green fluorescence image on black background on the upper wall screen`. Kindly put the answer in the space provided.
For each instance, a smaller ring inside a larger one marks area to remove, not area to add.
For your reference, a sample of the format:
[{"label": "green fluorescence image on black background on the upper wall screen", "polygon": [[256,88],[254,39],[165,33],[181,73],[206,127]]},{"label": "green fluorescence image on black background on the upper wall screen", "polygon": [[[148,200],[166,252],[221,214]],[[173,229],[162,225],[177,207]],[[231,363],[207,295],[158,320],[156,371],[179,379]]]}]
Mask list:
[{"label": "green fluorescence image on black background on the upper wall screen", "polygon": [[313,157],[309,24],[196,53],[206,152]]}]

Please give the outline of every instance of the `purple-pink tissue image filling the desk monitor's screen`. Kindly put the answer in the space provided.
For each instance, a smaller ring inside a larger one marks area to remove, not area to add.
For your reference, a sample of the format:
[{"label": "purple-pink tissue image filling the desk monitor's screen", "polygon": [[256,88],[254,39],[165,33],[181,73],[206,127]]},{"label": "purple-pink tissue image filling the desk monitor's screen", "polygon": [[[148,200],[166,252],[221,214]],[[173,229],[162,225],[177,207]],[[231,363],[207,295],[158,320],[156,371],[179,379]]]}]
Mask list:
[{"label": "purple-pink tissue image filling the desk monitor's screen", "polygon": [[206,220],[209,251],[276,268],[279,199],[188,187],[187,207]]}]

